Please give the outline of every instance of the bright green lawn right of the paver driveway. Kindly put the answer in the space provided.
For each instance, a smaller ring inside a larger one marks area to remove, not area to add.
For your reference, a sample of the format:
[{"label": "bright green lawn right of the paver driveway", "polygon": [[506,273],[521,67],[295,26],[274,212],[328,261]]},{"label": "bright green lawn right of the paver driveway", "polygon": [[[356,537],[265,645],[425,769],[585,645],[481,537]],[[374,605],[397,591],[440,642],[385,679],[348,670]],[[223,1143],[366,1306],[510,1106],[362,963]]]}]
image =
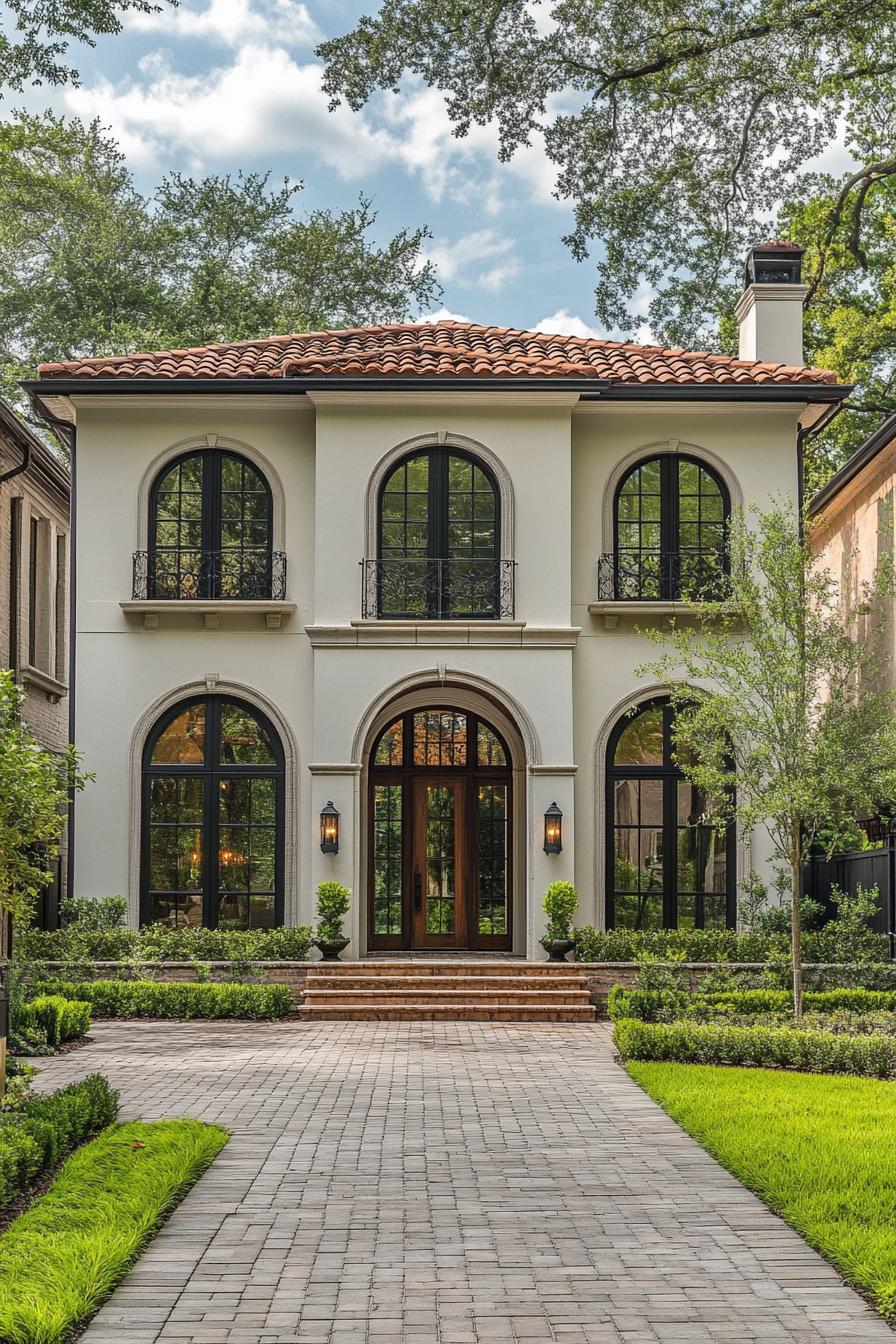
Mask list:
[{"label": "bright green lawn right of the paver driveway", "polygon": [[896,1083],[630,1063],[723,1167],[896,1317]]}]

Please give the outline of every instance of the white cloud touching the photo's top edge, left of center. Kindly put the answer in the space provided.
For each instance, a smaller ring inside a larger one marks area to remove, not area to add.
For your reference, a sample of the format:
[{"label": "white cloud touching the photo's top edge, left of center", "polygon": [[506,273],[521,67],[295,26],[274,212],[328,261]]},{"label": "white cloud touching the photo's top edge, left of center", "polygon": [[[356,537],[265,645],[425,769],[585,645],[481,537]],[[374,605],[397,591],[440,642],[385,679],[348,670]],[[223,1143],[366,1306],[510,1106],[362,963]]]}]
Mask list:
[{"label": "white cloud touching the photo's top edge, left of center", "polygon": [[133,32],[161,34],[172,42],[197,39],[222,47],[247,42],[304,47],[321,40],[321,30],[308,5],[300,0],[208,0],[204,8],[180,4],[175,11],[130,12],[126,27]]}]

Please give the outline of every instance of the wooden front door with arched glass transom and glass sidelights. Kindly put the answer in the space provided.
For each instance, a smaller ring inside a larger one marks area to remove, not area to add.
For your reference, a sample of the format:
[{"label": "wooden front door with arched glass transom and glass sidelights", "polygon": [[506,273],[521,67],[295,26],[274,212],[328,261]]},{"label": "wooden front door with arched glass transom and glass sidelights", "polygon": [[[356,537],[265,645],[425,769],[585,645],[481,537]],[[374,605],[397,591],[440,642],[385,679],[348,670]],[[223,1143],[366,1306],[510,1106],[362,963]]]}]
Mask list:
[{"label": "wooden front door with arched glass transom and glass sidelights", "polygon": [[510,948],[510,761],[472,714],[411,711],[371,758],[371,949]]}]

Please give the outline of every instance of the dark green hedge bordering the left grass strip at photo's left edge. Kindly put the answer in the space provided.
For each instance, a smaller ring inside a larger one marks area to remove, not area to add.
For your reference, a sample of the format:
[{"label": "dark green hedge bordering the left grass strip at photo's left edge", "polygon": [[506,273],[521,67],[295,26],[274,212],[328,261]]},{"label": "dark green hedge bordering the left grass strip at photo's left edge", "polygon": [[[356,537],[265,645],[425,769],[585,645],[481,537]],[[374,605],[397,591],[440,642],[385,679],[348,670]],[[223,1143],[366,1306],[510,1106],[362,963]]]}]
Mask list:
[{"label": "dark green hedge bordering the left grass strip at photo's left edge", "polygon": [[0,1117],[0,1208],[118,1114],[118,1093],[101,1074],[28,1097]]}]

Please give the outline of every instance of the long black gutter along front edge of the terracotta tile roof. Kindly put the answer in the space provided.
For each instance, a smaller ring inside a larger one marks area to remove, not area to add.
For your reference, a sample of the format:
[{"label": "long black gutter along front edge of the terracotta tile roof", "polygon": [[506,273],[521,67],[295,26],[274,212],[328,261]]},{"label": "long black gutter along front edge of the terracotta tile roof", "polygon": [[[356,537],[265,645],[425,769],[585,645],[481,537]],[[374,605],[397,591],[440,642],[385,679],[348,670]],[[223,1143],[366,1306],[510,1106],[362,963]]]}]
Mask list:
[{"label": "long black gutter along front edge of the terracotta tile roof", "polygon": [[50,378],[31,396],[296,392],[579,392],[583,401],[840,402],[848,383],[613,383],[603,378]]}]

